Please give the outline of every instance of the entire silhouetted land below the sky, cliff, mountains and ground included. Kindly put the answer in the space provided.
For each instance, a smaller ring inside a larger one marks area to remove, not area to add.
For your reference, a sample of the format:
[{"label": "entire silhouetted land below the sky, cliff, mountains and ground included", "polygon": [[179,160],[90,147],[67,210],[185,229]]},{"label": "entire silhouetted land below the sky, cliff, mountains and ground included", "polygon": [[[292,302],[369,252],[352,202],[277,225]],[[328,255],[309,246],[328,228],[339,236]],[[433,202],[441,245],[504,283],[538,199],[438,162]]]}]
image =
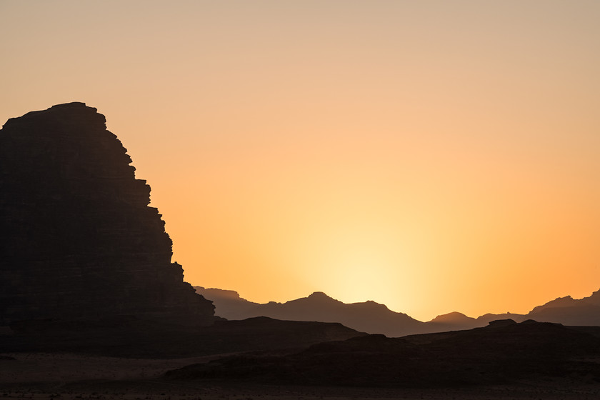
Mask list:
[{"label": "entire silhouetted land below the sky, cliff, mountains and ground included", "polygon": [[[323,293],[261,305],[231,291],[193,289],[171,263],[148,185],[135,178],[105,121],[76,102],[10,119],[0,131],[0,186],[9,194],[0,201],[8,244],[0,261],[4,398],[599,394],[598,292],[527,315],[451,313],[423,323],[373,301],[344,304]],[[36,163],[25,162],[30,154]],[[249,317],[225,319],[219,309]],[[379,333],[382,326],[396,337]]]}]

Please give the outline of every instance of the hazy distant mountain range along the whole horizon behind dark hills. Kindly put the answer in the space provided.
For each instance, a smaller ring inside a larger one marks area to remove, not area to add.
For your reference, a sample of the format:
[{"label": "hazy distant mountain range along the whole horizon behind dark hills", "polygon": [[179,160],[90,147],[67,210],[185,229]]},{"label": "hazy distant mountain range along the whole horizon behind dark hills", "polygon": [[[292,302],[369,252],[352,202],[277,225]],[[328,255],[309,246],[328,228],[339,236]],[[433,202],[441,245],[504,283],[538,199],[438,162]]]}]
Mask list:
[{"label": "hazy distant mountain range along the whole horizon behind dark hills", "polygon": [[270,301],[259,304],[241,298],[232,290],[205,289],[202,286],[194,286],[194,289],[214,302],[216,315],[229,320],[268,316],[291,321],[339,322],[357,331],[389,337],[473,329],[497,319],[513,319],[516,322],[534,319],[569,326],[600,326],[600,290],[584,299],[560,297],[536,306],[528,314],[484,314],[471,318],[452,312],[423,322],[391,311],[375,301],[346,304],[319,291],[285,303]]}]

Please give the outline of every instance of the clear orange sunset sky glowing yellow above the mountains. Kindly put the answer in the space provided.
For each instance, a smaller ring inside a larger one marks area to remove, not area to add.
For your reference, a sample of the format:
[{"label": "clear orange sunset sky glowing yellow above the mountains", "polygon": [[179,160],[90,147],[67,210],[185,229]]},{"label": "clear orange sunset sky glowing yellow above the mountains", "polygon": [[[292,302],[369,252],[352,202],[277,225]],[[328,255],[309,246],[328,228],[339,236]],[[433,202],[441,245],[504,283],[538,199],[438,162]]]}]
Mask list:
[{"label": "clear orange sunset sky glowing yellow above the mountains", "polygon": [[193,285],[421,321],[600,289],[600,1],[0,0],[0,124],[83,101]]}]

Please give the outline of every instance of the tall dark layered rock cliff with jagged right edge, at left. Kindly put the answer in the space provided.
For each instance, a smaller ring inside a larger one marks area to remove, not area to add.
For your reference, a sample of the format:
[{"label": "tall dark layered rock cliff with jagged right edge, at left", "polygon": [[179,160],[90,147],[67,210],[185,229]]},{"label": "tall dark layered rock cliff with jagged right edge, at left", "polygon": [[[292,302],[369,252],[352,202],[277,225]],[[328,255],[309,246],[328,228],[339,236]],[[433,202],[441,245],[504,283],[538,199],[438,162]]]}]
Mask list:
[{"label": "tall dark layered rock cliff with jagged right edge, at left", "polygon": [[0,130],[0,325],[134,315],[210,324],[211,301],[171,263],[150,186],[83,103]]}]

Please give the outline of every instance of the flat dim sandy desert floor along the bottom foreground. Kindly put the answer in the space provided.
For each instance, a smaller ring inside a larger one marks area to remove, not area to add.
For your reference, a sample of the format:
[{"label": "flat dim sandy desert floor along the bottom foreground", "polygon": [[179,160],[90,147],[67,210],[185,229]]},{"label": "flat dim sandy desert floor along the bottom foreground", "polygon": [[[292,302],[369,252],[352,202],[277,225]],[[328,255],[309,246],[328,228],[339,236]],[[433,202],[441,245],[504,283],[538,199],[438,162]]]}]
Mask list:
[{"label": "flat dim sandy desert floor along the bottom foreground", "polygon": [[600,399],[600,384],[522,382],[458,389],[370,389],[260,386],[236,382],[174,382],[169,369],[206,362],[189,359],[121,359],[81,354],[0,354],[0,399],[312,400],[312,399]]}]

